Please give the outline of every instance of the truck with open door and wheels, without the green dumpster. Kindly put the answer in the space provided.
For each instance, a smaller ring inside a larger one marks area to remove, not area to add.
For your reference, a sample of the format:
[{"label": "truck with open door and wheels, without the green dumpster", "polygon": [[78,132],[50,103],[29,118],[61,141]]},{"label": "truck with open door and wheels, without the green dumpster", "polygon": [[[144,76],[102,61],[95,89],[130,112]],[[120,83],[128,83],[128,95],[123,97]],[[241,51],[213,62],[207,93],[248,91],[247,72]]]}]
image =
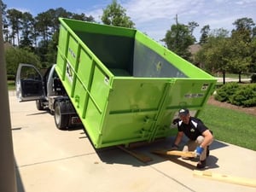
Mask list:
[{"label": "truck with open door and wheels, without the green dumpster", "polygon": [[61,79],[55,72],[55,64],[42,74],[37,67],[21,63],[16,73],[16,96],[19,102],[36,101],[38,110],[49,110],[55,116],[58,129],[80,124]]}]

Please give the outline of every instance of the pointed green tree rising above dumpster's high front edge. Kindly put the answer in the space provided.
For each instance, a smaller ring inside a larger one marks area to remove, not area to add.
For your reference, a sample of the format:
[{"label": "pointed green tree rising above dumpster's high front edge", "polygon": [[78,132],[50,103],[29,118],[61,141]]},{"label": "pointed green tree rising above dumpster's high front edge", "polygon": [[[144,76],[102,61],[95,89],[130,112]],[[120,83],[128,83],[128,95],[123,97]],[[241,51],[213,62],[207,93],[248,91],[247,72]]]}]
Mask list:
[{"label": "pointed green tree rising above dumpster's high front edge", "polygon": [[135,24],[125,12],[126,10],[116,0],[113,0],[106,9],[103,9],[102,22],[110,26],[134,28]]}]

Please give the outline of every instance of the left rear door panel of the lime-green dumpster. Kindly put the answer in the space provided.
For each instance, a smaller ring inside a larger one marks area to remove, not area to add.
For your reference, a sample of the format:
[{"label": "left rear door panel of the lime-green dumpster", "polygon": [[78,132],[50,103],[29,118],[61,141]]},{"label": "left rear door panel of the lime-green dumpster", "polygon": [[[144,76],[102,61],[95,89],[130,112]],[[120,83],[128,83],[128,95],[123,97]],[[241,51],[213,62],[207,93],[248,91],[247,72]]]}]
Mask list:
[{"label": "left rear door panel of the lime-green dumpster", "polygon": [[167,79],[113,79],[102,146],[147,141],[154,131]]}]

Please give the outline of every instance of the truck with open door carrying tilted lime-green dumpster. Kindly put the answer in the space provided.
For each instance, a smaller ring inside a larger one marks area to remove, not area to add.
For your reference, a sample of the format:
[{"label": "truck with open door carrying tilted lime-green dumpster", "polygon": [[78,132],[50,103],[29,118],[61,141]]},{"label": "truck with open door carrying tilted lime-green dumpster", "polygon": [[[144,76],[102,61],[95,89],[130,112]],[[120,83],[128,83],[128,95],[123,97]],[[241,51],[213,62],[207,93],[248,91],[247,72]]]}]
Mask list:
[{"label": "truck with open door carrying tilted lime-green dumpster", "polygon": [[56,64],[44,76],[20,64],[16,93],[59,129],[81,123],[95,148],[173,136],[178,109],[198,116],[214,90],[210,74],[137,29],[59,20]]}]

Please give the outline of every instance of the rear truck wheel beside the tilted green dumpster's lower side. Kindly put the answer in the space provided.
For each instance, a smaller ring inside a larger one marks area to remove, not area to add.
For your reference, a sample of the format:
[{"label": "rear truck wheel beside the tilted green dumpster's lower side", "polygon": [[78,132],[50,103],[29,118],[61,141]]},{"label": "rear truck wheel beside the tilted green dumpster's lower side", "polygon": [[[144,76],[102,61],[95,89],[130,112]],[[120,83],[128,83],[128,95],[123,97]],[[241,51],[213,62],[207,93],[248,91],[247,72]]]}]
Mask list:
[{"label": "rear truck wheel beside the tilted green dumpster's lower side", "polygon": [[55,125],[59,130],[64,130],[68,125],[68,114],[61,113],[62,103],[55,102]]}]

